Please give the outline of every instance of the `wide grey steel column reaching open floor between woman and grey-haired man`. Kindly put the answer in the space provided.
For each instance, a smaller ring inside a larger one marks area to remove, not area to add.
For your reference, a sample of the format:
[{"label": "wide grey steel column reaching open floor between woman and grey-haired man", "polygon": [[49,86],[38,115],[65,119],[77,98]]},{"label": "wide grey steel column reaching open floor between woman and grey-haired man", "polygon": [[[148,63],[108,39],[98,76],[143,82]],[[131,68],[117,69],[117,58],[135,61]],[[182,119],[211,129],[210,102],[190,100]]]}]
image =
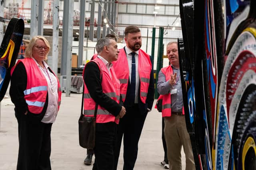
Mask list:
[{"label": "wide grey steel column reaching open floor between woman and grey-haired man", "polygon": [[70,96],[74,0],[65,0],[62,30],[61,75],[66,75],[66,97]]}]

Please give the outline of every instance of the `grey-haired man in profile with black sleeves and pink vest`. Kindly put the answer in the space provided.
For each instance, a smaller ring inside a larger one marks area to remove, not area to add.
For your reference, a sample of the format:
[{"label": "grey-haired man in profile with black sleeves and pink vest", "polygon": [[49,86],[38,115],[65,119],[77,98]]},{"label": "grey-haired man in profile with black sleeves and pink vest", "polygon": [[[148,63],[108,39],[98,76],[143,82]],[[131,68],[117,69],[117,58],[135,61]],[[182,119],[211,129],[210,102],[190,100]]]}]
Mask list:
[{"label": "grey-haired man in profile with black sleeves and pink vest", "polygon": [[112,38],[99,39],[96,50],[98,56],[84,68],[84,116],[91,117],[98,108],[92,169],[113,170],[117,124],[126,113],[119,104],[120,82],[112,68],[119,50]]}]

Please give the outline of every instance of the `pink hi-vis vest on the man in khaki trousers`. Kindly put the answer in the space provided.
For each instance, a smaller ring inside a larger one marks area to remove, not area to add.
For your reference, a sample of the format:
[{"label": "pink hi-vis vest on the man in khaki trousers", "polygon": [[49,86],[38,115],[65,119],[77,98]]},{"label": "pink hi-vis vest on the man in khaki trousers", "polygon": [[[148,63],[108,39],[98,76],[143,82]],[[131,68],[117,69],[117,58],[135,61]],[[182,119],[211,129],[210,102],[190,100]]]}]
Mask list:
[{"label": "pink hi-vis vest on the man in khaki trousers", "polygon": [[[170,80],[171,74],[173,74],[172,66],[164,67],[161,69],[162,73],[165,75],[166,81]],[[172,115],[171,109],[171,94],[160,95],[158,100],[162,99],[162,117],[169,117]],[[182,113],[184,115],[184,106],[182,107]]]}]

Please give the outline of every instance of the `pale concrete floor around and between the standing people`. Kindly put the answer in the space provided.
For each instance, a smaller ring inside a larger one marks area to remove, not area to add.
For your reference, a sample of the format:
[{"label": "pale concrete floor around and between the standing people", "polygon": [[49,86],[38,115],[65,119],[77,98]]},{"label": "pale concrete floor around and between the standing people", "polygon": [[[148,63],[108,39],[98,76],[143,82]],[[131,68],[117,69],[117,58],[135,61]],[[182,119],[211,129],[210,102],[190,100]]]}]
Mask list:
[{"label": "pale concrete floor around and between the standing people", "polygon": [[[71,94],[62,102],[56,122],[52,126],[52,170],[90,170],[83,164],[86,149],[78,143],[78,117],[80,116],[82,94]],[[7,94],[8,96],[8,94]],[[155,101],[156,102],[156,101]],[[138,158],[134,170],[163,170],[160,162],[164,158],[161,139],[161,114],[153,109],[146,118],[140,137]],[[122,170],[122,150],[118,170]],[[16,170],[18,155],[18,127],[14,116],[14,105],[10,98],[3,99],[0,112],[0,170]],[[182,149],[182,170],[185,170],[185,156]]]}]

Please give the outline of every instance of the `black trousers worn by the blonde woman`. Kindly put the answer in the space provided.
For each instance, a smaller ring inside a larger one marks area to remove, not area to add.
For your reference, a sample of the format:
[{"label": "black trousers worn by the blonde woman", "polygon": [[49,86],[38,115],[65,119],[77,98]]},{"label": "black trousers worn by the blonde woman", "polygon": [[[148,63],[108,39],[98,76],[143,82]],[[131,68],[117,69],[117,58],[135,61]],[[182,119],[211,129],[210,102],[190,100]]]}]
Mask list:
[{"label": "black trousers worn by the blonde woman", "polygon": [[51,170],[52,123],[42,123],[32,114],[16,114],[19,152],[17,170]]}]

